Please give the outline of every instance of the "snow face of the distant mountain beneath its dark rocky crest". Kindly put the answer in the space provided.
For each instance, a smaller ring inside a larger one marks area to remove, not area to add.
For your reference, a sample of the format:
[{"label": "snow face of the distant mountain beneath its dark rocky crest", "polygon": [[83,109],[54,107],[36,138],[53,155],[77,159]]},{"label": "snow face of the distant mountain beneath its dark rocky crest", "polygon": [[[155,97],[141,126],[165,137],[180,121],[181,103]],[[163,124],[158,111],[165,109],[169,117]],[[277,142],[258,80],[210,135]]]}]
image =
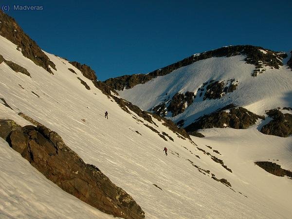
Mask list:
[{"label": "snow face of the distant mountain beneath its dark rocky crest", "polygon": [[151,110],[164,102],[168,96],[171,99],[177,92],[196,93],[203,83],[210,80],[224,81],[225,84],[230,79],[238,80],[237,89],[220,99],[203,101],[203,95],[199,97],[198,93],[194,103],[183,113],[175,117],[167,114],[167,117],[175,122],[186,120],[184,126],[204,114],[209,114],[231,103],[259,115],[263,115],[265,110],[277,107],[292,107],[291,70],[287,66],[280,66],[278,70],[267,67],[266,72],[253,77],[251,73],[255,70],[255,66],[246,64],[244,58],[243,55],[237,55],[200,60],[167,75],[158,76],[145,84],[118,92],[121,97],[141,109]]}]

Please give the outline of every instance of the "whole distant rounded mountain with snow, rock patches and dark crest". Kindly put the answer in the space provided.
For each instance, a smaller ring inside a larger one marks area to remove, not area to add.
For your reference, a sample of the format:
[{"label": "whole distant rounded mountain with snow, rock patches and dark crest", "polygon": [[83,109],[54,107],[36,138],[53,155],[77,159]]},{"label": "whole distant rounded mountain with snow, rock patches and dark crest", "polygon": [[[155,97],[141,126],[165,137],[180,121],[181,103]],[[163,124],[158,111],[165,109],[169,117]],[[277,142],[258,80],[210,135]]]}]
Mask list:
[{"label": "whole distant rounded mountain with snow, rock patches and dark crest", "polygon": [[291,53],[229,46],[192,55],[146,75],[125,75],[106,83],[141,109],[191,130],[192,123],[219,109],[237,106],[264,116],[266,110],[291,108],[291,60]]}]

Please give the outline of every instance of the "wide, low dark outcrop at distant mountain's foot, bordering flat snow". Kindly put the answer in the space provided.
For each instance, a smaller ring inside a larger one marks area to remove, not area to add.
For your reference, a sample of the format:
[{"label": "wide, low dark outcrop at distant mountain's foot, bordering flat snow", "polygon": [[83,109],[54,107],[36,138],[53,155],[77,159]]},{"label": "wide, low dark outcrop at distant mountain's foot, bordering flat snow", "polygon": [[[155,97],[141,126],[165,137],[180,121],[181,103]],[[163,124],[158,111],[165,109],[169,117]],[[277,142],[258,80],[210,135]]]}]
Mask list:
[{"label": "wide, low dark outcrop at distant mountain's foot, bordering flat snow", "polygon": [[242,107],[236,108],[228,105],[211,114],[204,115],[194,123],[185,128],[187,132],[192,132],[203,128],[248,128],[256,124],[257,119],[264,119],[264,116],[256,115]]}]

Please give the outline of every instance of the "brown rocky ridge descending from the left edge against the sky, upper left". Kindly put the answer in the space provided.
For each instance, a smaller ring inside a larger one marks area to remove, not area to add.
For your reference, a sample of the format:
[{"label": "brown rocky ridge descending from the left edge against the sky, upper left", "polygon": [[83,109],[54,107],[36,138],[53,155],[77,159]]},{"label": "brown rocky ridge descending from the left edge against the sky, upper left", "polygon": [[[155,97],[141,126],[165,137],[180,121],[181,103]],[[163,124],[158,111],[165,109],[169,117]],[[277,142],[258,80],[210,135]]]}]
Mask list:
[{"label": "brown rocky ridge descending from the left edge against the sky, upper left", "polygon": [[0,20],[0,35],[16,44],[23,56],[53,74],[50,67],[56,70],[55,64],[44,54],[37,43],[23,32],[15,19],[0,10]]}]

